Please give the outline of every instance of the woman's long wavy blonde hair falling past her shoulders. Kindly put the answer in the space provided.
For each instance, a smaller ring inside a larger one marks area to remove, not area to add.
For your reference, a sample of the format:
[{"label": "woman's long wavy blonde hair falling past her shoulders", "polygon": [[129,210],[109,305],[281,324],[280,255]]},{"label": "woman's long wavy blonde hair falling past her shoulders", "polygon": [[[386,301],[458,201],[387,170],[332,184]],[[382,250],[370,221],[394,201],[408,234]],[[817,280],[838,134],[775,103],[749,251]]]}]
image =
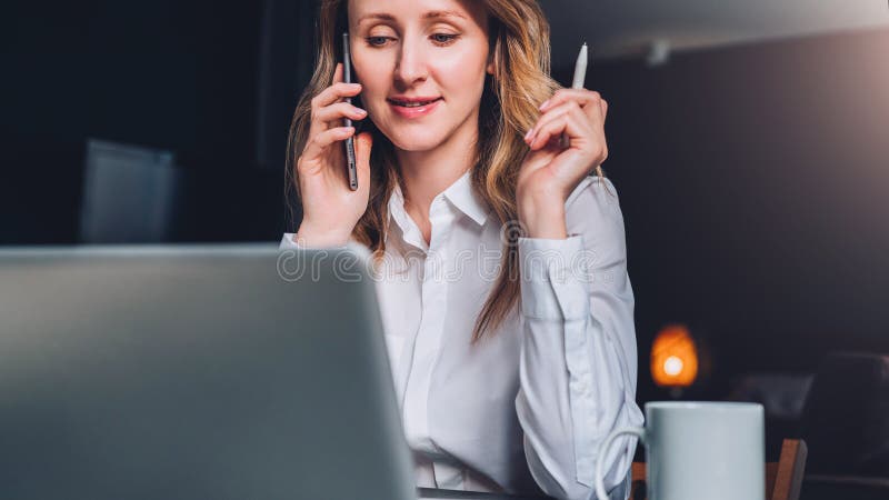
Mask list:
[{"label": "woman's long wavy blonde hair falling past her shoulders", "polygon": [[[479,140],[472,169],[472,189],[491,209],[501,227],[518,220],[516,183],[519,167],[529,148],[527,130],[540,116],[538,106],[561,88],[550,78],[549,22],[536,0],[483,0],[489,19],[489,42],[495,62],[488,74],[479,110]],[[311,99],[330,86],[338,62],[339,33],[348,28],[346,0],[321,0],[318,20],[318,59],[314,74],[299,100],[287,144],[288,199],[299,197],[297,159],[308,140]],[[367,246],[376,258],[386,250],[389,231],[388,202],[400,182],[394,149],[371,120],[366,131],[373,134],[370,157],[368,209],[352,230],[352,239]],[[601,171],[599,170],[601,176]],[[403,190],[403,184],[400,184]],[[472,331],[472,342],[495,331],[517,306],[519,291],[518,237],[503,231],[503,254],[496,279]]]}]

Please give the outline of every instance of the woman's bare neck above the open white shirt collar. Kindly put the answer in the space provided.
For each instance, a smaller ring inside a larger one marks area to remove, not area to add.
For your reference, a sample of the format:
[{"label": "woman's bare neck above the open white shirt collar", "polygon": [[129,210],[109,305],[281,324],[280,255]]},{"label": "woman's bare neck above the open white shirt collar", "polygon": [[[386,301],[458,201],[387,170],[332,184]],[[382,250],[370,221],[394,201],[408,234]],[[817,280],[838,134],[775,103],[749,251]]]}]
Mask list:
[{"label": "woman's bare neck above the open white shirt collar", "polygon": [[429,226],[432,200],[472,168],[478,141],[478,117],[470,117],[438,148],[428,151],[396,149],[404,181],[406,209],[423,234]]}]

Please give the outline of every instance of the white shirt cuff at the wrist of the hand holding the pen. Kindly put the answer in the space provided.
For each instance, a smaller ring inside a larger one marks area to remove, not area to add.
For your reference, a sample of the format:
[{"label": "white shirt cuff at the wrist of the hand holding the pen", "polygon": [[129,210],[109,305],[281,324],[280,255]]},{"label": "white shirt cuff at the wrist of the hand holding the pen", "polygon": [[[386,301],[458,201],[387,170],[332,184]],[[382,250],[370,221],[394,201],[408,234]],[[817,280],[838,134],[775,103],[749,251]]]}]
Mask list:
[{"label": "white shirt cuff at the wrist of the hand holding the pen", "polygon": [[583,237],[519,238],[521,309],[526,317],[577,320],[589,314],[591,256]]}]

